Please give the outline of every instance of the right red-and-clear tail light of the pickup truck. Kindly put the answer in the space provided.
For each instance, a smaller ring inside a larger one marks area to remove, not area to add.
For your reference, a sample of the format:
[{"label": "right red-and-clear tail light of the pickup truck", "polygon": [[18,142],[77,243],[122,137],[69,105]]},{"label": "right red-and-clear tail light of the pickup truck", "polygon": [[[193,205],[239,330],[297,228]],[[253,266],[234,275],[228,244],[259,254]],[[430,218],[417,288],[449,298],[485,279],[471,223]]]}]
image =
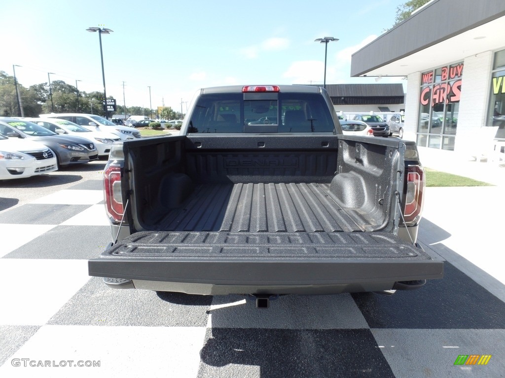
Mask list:
[{"label": "right red-and-clear tail light of the pickup truck", "polygon": [[407,168],[407,193],[403,218],[407,226],[419,223],[423,212],[423,192],[425,188],[424,169],[420,165]]}]

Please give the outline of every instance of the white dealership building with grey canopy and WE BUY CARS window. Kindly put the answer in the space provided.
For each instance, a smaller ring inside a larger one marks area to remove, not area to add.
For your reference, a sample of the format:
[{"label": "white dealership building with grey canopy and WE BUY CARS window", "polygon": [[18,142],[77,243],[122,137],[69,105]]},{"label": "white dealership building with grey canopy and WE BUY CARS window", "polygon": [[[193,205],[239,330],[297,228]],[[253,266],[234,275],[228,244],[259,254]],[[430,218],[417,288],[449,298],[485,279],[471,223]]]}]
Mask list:
[{"label": "white dealership building with grey canopy and WE BUY CARS window", "polygon": [[404,138],[474,151],[505,141],[504,32],[504,0],[432,0],[354,53],[351,76],[406,77]]}]

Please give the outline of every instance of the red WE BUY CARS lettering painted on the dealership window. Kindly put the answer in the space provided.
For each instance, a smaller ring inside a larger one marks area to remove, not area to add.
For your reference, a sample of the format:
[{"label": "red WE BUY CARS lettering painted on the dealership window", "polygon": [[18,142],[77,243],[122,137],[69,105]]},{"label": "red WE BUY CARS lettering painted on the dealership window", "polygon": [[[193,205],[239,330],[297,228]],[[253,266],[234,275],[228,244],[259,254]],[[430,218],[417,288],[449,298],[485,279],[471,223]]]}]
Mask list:
[{"label": "red WE BUY CARS lettering painted on the dealership window", "polygon": [[[433,83],[433,71],[425,72],[422,76],[423,85]],[[461,97],[461,77],[463,75],[463,63],[456,66],[443,67],[441,69],[439,81],[435,85],[429,85],[421,89],[421,105],[428,105],[431,101],[432,106],[436,104],[448,104],[449,102],[458,102]]]}]

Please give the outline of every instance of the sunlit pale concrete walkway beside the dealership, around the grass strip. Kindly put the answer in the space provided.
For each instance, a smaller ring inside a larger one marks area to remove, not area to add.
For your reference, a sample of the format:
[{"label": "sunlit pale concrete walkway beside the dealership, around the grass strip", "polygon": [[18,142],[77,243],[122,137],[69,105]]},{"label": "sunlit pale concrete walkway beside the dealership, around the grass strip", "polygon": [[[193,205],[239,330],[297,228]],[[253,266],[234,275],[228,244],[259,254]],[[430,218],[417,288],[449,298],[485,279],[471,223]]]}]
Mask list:
[{"label": "sunlit pale concrete walkway beside the dealership, around the grass strip", "polygon": [[496,185],[427,187],[418,240],[505,301],[505,164],[418,149],[427,168]]}]

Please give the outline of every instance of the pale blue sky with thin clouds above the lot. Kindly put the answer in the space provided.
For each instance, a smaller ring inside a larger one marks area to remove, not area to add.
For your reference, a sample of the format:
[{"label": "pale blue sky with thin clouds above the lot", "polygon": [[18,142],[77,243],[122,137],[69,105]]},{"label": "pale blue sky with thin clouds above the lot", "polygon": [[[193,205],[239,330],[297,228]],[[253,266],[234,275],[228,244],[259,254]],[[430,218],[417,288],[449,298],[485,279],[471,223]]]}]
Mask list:
[{"label": "pale blue sky with thin clouds above the lot", "polygon": [[[229,84],[375,83],[351,78],[351,54],[394,23],[403,0],[4,2],[0,70],[19,82],[63,80],[79,90],[103,90],[126,106],[171,106],[186,111],[198,88]],[[381,83],[403,83],[384,78]],[[186,103],[187,102],[187,103]]]}]

